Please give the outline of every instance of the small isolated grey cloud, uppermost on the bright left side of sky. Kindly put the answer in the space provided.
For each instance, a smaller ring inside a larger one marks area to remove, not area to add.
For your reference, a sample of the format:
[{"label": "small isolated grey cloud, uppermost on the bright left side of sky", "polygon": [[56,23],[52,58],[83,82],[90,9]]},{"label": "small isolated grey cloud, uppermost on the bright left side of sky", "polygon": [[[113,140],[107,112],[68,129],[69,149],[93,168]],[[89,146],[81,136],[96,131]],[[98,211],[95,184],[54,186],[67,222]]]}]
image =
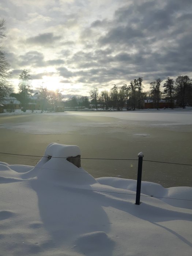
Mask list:
[{"label": "small isolated grey cloud, uppermost on the bright left side of sky", "polygon": [[54,36],[53,33],[39,34],[35,37],[27,38],[27,44],[33,45],[50,45],[52,46],[56,41],[61,40],[61,36]]}]

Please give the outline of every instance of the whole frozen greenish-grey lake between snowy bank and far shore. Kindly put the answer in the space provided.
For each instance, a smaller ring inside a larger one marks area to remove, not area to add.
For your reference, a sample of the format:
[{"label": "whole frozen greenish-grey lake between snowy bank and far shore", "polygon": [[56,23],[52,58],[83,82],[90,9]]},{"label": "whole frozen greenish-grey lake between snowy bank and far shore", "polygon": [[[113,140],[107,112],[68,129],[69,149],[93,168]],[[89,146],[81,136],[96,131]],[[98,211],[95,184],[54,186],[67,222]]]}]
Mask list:
[{"label": "whole frozen greenish-grey lake between snowy bank and far shore", "polygon": [[[43,155],[51,142],[75,144],[82,158],[138,159],[192,164],[192,111],[35,113],[0,117],[0,152]],[[35,165],[38,157],[0,154],[0,161]],[[94,177],[136,179],[137,161],[82,159]],[[142,180],[192,186],[192,166],[143,162]]]}]

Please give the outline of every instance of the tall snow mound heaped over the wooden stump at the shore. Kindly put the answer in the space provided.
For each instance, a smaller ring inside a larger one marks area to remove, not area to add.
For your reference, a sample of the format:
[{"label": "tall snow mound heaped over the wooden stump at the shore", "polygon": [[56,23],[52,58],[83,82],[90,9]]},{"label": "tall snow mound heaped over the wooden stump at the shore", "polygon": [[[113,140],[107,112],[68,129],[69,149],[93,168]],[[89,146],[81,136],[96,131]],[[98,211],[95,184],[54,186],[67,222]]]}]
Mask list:
[{"label": "tall snow mound heaped over the wooden stump at the shore", "polygon": [[23,178],[37,177],[38,180],[57,182],[58,184],[90,185],[97,181],[82,167],[76,167],[67,161],[68,157],[80,155],[80,149],[75,145],[51,143],[45,150],[44,157],[34,169],[23,174]]}]

